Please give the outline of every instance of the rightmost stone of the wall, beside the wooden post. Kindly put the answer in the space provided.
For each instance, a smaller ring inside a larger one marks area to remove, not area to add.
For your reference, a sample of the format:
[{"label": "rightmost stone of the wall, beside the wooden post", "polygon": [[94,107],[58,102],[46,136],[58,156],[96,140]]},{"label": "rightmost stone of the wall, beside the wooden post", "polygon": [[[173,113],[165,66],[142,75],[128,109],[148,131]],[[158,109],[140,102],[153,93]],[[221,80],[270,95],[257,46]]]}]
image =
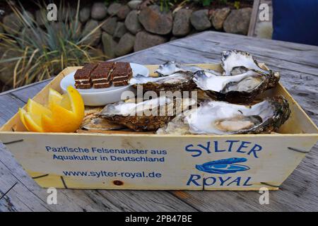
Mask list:
[{"label": "rightmost stone of the wall, beside the wooden post", "polygon": [[240,8],[232,10],[226,20],[223,28],[225,32],[247,35],[249,31],[249,20],[251,19],[252,8]]}]

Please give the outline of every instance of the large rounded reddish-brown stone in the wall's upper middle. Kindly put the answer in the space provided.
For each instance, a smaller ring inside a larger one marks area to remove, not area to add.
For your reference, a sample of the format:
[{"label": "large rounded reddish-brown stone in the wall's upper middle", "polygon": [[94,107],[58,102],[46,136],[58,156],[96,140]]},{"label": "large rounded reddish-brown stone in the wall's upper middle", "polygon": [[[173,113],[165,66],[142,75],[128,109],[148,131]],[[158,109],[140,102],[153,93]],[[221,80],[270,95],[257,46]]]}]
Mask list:
[{"label": "large rounded reddish-brown stone in the wall's upper middle", "polygon": [[139,21],[148,32],[167,35],[172,30],[172,13],[160,12],[160,7],[153,5],[145,7],[139,13]]}]

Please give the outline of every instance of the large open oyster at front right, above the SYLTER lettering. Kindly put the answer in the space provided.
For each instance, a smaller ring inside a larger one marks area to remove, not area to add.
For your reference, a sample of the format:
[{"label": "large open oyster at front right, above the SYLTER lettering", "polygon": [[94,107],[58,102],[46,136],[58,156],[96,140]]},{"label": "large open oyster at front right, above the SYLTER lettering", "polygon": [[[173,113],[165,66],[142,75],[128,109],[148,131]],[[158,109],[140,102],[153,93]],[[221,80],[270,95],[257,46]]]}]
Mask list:
[{"label": "large open oyster at front right, above the SYLTER lettering", "polygon": [[271,133],[289,116],[287,100],[277,95],[252,106],[203,102],[184,122],[189,124],[189,131],[196,134]]}]

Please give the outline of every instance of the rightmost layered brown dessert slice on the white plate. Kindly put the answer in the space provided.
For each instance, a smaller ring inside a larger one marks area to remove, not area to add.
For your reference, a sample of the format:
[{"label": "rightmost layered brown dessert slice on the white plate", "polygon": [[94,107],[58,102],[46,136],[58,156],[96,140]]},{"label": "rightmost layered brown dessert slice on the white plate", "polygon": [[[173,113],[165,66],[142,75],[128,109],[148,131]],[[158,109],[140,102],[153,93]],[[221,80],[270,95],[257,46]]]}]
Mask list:
[{"label": "rightmost layered brown dessert slice on the white plate", "polygon": [[114,64],[112,71],[112,83],[114,86],[128,85],[132,76],[132,70],[129,63],[118,62]]}]

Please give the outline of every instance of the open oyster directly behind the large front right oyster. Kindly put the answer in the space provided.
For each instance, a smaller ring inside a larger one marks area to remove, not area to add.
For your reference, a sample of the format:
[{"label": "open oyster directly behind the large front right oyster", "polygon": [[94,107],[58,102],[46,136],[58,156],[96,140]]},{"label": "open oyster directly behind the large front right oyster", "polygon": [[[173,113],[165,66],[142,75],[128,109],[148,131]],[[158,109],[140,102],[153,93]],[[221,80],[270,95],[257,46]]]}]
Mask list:
[{"label": "open oyster directly behind the large front right oyster", "polygon": [[193,81],[214,100],[232,103],[250,103],[257,95],[273,88],[278,79],[275,73],[246,71],[236,76],[216,76],[208,71],[197,71]]}]

